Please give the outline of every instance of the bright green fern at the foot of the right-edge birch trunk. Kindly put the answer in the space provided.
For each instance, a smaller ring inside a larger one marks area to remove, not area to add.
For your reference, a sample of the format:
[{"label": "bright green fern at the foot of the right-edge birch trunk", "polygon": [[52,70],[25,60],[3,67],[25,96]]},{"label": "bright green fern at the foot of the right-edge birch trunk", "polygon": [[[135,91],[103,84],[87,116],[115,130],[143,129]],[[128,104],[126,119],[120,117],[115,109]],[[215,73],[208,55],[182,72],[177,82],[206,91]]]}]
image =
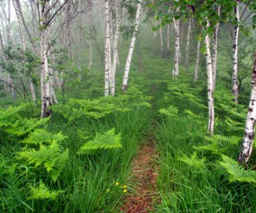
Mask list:
[{"label": "bright green fern at the foot of the right-edge birch trunk", "polygon": [[222,161],[219,161],[219,164],[227,170],[230,182],[253,182],[256,184],[256,172],[253,170],[244,170],[242,166],[238,165],[237,161],[228,156],[222,155]]}]

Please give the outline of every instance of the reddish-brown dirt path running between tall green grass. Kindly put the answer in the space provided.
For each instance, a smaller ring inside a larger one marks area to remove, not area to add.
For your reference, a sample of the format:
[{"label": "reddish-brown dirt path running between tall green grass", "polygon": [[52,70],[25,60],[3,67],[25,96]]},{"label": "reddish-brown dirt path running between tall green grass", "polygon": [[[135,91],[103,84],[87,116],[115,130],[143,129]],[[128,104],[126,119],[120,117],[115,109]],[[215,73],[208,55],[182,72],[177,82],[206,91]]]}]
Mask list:
[{"label": "reddish-brown dirt path running between tall green grass", "polygon": [[125,203],[121,207],[121,212],[140,213],[154,211],[157,169],[153,161],[156,158],[157,153],[151,140],[139,147],[139,151],[131,164],[131,181],[135,184],[135,191],[124,197]]}]

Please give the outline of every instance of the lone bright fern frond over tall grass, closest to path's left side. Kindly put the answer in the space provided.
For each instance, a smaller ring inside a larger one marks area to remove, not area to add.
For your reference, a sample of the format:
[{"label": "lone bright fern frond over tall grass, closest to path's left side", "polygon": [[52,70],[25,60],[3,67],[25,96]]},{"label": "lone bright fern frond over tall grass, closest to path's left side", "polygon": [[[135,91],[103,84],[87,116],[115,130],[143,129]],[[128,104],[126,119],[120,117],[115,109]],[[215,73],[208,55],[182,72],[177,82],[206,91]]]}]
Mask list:
[{"label": "lone bright fern frond over tall grass, closest to path's left side", "polygon": [[88,141],[83,145],[78,153],[87,154],[88,151],[97,150],[97,149],[114,149],[121,148],[121,134],[115,135],[115,129],[110,129],[104,134],[96,133],[94,139]]}]

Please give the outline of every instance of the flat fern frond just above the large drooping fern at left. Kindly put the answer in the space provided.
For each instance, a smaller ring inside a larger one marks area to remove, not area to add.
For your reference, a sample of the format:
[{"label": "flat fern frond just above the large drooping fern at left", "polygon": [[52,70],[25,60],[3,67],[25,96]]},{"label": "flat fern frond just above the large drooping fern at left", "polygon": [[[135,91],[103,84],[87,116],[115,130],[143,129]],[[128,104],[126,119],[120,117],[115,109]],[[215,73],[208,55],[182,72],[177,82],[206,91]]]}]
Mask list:
[{"label": "flat fern frond just above the large drooping fern at left", "polygon": [[62,135],[61,131],[57,134],[48,133],[45,129],[36,129],[22,141],[25,144],[42,144],[43,142],[51,143],[51,141],[61,141],[67,137]]}]

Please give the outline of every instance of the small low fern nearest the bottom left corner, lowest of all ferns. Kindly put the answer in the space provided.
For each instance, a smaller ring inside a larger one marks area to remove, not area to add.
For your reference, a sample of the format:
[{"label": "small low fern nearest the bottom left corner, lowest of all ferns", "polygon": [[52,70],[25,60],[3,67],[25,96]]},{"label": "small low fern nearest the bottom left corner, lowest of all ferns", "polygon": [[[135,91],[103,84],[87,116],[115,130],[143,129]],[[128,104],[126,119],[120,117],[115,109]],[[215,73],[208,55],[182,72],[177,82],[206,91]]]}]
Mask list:
[{"label": "small low fern nearest the bottom left corner, lowest of all ferns", "polygon": [[56,197],[63,192],[61,190],[50,191],[42,181],[40,181],[39,187],[35,188],[30,186],[30,190],[31,190],[31,196],[29,196],[28,199],[35,199],[35,200],[43,200],[43,199],[55,200]]}]

